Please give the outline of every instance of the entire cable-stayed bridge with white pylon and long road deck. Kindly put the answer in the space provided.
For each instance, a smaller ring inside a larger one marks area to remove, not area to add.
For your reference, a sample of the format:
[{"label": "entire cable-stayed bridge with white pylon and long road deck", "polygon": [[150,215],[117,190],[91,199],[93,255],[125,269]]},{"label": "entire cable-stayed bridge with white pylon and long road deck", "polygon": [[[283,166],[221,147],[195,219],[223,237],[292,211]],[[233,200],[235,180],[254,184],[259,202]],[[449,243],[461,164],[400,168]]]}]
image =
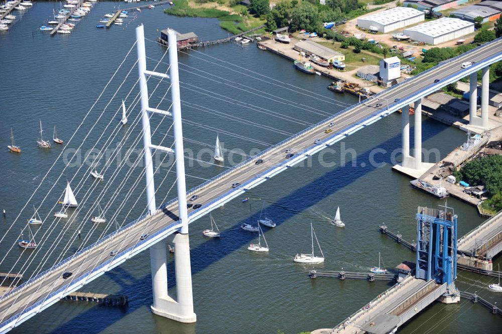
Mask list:
[{"label": "entire cable-stayed bridge with white pylon and long road deck", "polygon": [[[368,100],[349,107],[341,113],[333,115],[243,163],[228,169],[194,189],[186,191],[184,185],[184,166],[179,166],[183,162],[183,146],[182,140],[180,140],[182,138],[181,119],[179,118],[180,115],[177,115],[180,112],[180,96],[179,88],[176,88],[176,81],[178,80],[176,47],[170,46],[169,48],[169,63],[171,65],[169,75],[155,72],[155,70],[149,71],[145,67],[143,27],[139,27],[138,29],[137,47],[140,69],[140,100],[142,105],[142,114],[138,120],[141,119],[144,129],[143,143],[146,149],[143,152],[145,154],[145,174],[147,178],[148,213],[130,224],[122,226],[112,234],[101,238],[96,243],[79,250],[74,256],[59,262],[55,266],[30,278],[21,286],[4,294],[0,298],[0,332],[9,331],[14,326],[19,325],[54,304],[66,294],[81,288],[86,283],[147,248],[151,249],[152,259],[154,285],[154,304],[152,310],[157,314],[179,321],[195,321],[188,248],[188,224],[190,222],[245,191],[267,181],[280,172],[287,170],[289,167],[298,164],[309,156],[395,112],[399,108],[412,102],[416,102],[417,105],[417,101],[420,101],[422,97],[449,83],[458,81],[460,78],[481,69],[483,70],[484,77],[487,66],[502,59],[502,43],[500,40],[483,45],[387,89]],[[475,61],[475,63],[468,68],[461,68],[460,64],[465,61]],[[174,64],[176,65],[173,66]],[[148,88],[146,86],[147,77],[170,80],[172,85],[171,111],[149,106]],[[434,82],[438,77],[441,80]],[[383,106],[375,107],[375,104],[379,102]],[[173,117],[174,122],[172,127],[175,132],[174,149],[172,147],[162,147],[152,144],[149,115],[153,114]],[[417,114],[419,116],[421,114],[419,108],[417,108]],[[404,133],[407,131],[407,126],[409,126],[406,123],[406,115],[408,114],[403,113],[403,119],[405,120],[403,126]],[[417,118],[415,121],[417,122]],[[332,125],[330,126],[331,123]],[[417,127],[415,130],[417,131]],[[418,138],[418,140],[421,140],[420,136]],[[415,148],[417,148],[417,136],[415,136],[415,140]],[[316,141],[315,144],[314,141]],[[405,149],[405,145],[403,146]],[[291,149],[294,155],[286,158],[286,149]],[[181,158],[177,156],[176,159],[178,198],[160,207],[156,206],[155,201],[156,190],[153,184],[152,150],[161,150],[177,155],[181,154]],[[150,158],[148,157],[149,155]],[[409,151],[406,152],[404,150],[404,155],[409,155]],[[414,168],[420,168],[421,161],[419,161],[420,158],[417,158],[415,155]],[[257,164],[259,159],[262,159],[263,163]],[[182,184],[179,182],[182,182]],[[239,185],[232,187],[234,183],[239,183]],[[201,208],[188,213],[186,209],[187,197],[192,195],[198,195],[198,202],[203,203],[203,205]],[[144,240],[140,240],[140,237],[146,233],[149,236]],[[173,233],[177,233],[175,238],[175,261],[178,300],[176,301],[167,295],[166,255],[162,242],[163,239]],[[116,254],[110,256],[110,252],[113,251],[116,251]],[[62,274],[64,272],[72,272],[72,276],[63,279]]]}]

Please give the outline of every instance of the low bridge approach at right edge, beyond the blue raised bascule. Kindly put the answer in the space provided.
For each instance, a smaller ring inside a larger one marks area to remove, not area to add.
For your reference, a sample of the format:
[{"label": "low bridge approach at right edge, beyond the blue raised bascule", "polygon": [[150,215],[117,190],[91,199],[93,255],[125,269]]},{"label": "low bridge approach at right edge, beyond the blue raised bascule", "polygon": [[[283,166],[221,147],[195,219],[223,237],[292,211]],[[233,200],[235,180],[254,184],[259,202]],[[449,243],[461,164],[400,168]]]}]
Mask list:
[{"label": "low bridge approach at right edge, beyond the blue raised bascule", "polygon": [[457,249],[466,255],[472,254],[491,258],[496,255],[502,243],[502,211],[486,219],[483,224],[462,236]]}]

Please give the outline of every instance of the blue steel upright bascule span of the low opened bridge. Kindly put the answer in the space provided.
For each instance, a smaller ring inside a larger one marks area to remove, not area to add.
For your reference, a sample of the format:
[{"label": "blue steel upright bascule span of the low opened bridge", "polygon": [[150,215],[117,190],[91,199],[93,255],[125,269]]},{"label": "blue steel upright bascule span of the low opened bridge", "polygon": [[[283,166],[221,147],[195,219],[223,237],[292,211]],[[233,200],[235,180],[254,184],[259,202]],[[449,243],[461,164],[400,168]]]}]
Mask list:
[{"label": "blue steel upright bascule span of the low opened bridge", "polygon": [[[418,207],[415,277],[454,288],[457,278],[457,215],[453,209]],[[448,210],[450,209],[450,210]]]}]

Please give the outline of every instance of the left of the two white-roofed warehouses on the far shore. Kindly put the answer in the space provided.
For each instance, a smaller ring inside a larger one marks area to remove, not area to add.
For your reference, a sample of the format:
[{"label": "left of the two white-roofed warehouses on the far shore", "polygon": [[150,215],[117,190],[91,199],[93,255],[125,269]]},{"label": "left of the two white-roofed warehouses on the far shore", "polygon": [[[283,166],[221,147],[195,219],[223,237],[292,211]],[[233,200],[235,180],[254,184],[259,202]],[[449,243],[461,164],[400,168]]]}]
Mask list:
[{"label": "left of the two white-roofed warehouses on the far shore", "polygon": [[371,31],[388,33],[425,20],[425,14],[414,8],[395,7],[385,12],[357,19],[357,26]]}]

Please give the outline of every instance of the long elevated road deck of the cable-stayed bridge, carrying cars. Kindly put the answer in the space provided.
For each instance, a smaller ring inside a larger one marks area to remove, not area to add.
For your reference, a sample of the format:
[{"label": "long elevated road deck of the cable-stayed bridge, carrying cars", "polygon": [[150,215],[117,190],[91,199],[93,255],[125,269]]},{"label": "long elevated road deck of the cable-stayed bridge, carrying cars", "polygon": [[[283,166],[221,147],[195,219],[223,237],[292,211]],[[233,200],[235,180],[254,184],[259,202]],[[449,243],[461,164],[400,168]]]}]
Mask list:
[{"label": "long elevated road deck of the cable-stayed bridge, carrying cars", "polygon": [[[461,69],[460,64],[466,59],[476,63],[467,69]],[[500,59],[502,59],[502,42],[497,40],[389,88],[376,97],[358,103],[331,119],[262,152],[253,159],[227,170],[187,194],[190,196],[196,193],[199,195],[197,202],[203,204],[201,208],[190,212],[189,221],[194,221],[246,190],[265,182],[308,156],[380,120],[404,105]],[[444,80],[433,83],[438,77]],[[375,108],[374,104],[378,98],[387,99],[389,109]],[[400,100],[393,102],[395,98],[400,98]],[[332,127],[328,127],[330,122],[334,123]],[[326,134],[324,130],[328,128],[332,132]],[[322,142],[313,144],[316,139],[321,139]],[[285,159],[286,148],[291,148],[295,153],[290,159]],[[264,163],[256,165],[255,161],[259,158],[263,159]],[[230,186],[234,182],[240,182],[242,185],[233,189]],[[82,250],[47,272],[39,274],[15,290],[4,294],[0,299],[0,333],[9,331],[68,293],[118,266],[129,257],[177,232],[181,228],[177,222],[177,212],[177,201],[172,201],[166,209],[156,212],[151,217],[131,223],[92,247]],[[145,232],[150,233],[151,236],[144,241],[139,241],[140,236]],[[112,250],[118,251],[114,257],[109,256]],[[65,271],[71,271],[73,275],[68,279],[63,279],[61,275]]]}]

